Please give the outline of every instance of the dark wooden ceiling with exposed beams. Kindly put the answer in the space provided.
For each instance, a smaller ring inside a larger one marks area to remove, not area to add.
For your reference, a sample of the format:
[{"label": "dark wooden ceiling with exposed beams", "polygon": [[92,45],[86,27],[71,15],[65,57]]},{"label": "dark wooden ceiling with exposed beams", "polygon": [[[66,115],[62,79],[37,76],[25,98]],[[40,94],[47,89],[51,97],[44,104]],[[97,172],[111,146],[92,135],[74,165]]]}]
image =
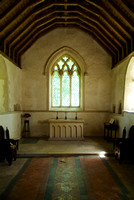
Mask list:
[{"label": "dark wooden ceiling with exposed beams", "polygon": [[58,27],[87,32],[112,56],[113,66],[134,51],[132,0],[2,0],[0,50],[21,66],[21,55]]}]

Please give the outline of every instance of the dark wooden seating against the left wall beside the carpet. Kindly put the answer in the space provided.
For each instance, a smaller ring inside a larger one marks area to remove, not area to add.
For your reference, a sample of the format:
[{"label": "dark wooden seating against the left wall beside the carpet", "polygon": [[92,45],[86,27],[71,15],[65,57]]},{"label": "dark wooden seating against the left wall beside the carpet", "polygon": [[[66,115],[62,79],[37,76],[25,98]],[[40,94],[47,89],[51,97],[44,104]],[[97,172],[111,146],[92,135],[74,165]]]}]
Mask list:
[{"label": "dark wooden seating against the left wall beside the carpet", "polygon": [[[9,134],[8,129],[6,133]],[[11,165],[13,160],[16,160],[17,146],[16,142],[10,140],[8,137],[5,139],[4,129],[0,126],[0,161],[7,160],[8,164]]]}]

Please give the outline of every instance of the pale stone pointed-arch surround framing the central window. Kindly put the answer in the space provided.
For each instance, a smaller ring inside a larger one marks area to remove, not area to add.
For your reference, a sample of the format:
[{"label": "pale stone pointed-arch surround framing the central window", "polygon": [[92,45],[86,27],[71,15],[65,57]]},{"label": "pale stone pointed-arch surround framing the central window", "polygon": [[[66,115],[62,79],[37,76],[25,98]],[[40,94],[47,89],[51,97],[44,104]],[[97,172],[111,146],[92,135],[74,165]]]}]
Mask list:
[{"label": "pale stone pointed-arch surround framing the central window", "polygon": [[[48,88],[49,88],[49,91],[48,91],[48,108],[49,110],[55,110],[55,108],[52,108],[51,106],[51,68],[55,65],[57,59],[59,59],[60,57],[64,56],[64,55],[67,55],[71,58],[73,58],[78,66],[80,67],[81,69],[81,82],[80,82],[80,85],[81,85],[81,94],[80,94],[80,101],[81,101],[81,105],[80,105],[80,108],[71,108],[71,111],[78,111],[78,110],[83,110],[83,107],[84,107],[84,103],[83,103],[83,94],[84,94],[84,76],[87,75],[87,72],[86,72],[86,65],[85,65],[85,62],[84,62],[84,59],[81,57],[81,55],[76,52],[74,49],[70,48],[70,47],[62,47],[60,49],[58,49],[57,51],[55,51],[53,54],[51,54],[51,56],[49,57],[49,59],[47,60],[47,63],[46,65],[44,66],[44,75],[46,75],[46,78],[47,78],[47,82],[48,82]],[[57,108],[56,108],[57,110]],[[59,110],[70,110],[67,109],[67,108],[59,108]]]}]

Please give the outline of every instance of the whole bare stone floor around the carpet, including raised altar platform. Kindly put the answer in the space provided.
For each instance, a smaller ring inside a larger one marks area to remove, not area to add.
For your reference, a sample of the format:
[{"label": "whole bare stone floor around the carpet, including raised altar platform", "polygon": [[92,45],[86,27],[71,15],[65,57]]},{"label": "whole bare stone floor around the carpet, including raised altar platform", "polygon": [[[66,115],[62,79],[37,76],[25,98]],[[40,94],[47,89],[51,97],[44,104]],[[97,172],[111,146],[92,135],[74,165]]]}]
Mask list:
[{"label": "whole bare stone floor around the carpet, including raised altar platform", "polygon": [[112,142],[106,142],[103,137],[90,137],[84,141],[50,141],[47,138],[23,138],[19,143],[17,160],[11,166],[8,166],[6,161],[0,163],[0,194],[22,168],[27,157],[100,155],[102,152],[105,152],[106,159],[112,169],[127,187],[129,199],[134,200],[134,165],[129,161],[119,164],[112,156]]}]

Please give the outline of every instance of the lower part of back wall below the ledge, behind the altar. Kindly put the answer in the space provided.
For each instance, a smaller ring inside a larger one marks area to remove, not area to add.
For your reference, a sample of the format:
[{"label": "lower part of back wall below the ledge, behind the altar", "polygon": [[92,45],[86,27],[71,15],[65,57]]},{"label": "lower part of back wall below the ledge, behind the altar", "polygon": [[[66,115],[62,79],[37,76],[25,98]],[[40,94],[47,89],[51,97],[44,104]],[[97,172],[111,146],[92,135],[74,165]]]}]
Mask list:
[{"label": "lower part of back wall below the ledge, behind the altar", "polygon": [[[30,135],[31,137],[49,136],[48,119],[56,118],[56,112],[29,112]],[[59,112],[59,118],[65,118],[64,112]],[[67,112],[67,117],[74,119],[75,112]],[[103,136],[103,124],[109,121],[109,112],[78,112],[78,119],[84,119],[84,136]],[[24,121],[22,121],[22,125]],[[23,136],[26,136],[23,133]]]}]

